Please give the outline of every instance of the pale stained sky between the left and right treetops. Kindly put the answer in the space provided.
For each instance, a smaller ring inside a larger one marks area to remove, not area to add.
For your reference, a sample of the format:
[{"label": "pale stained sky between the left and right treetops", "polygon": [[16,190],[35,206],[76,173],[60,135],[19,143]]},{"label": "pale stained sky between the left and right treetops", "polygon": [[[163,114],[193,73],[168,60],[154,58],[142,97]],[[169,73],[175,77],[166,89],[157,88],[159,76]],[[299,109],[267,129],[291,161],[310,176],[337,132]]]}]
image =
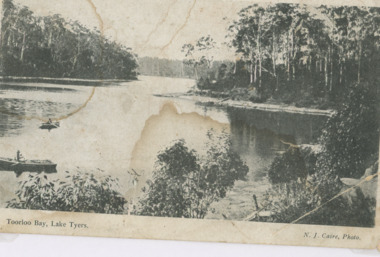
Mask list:
[{"label": "pale stained sky between the left and right treetops", "polygon": [[[222,45],[245,1],[224,0],[15,0],[37,15],[61,14],[131,47],[139,56],[182,59],[181,48],[202,36],[218,43],[216,59],[233,59]],[[226,18],[226,19],[224,19]]]}]

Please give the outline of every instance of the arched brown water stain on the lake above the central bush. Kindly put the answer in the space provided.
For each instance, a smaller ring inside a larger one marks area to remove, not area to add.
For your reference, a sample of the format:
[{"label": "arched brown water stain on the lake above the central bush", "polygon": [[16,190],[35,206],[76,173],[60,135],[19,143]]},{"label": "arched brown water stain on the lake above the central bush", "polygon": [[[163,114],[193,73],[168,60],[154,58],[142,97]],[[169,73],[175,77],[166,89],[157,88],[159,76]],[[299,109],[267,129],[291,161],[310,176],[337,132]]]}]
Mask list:
[{"label": "arched brown water stain on the lake above the central bush", "polygon": [[[216,120],[213,120],[210,117],[202,116],[196,112],[191,113],[179,113],[177,108],[172,102],[166,102],[162,107],[157,115],[150,116],[144,125],[144,128],[141,132],[139,140],[136,142],[131,155],[131,164],[130,169],[134,169],[138,171],[138,173],[141,175],[138,179],[138,184],[135,188],[131,188],[127,194],[126,198],[133,199],[135,196],[138,196],[141,194],[141,189],[146,186],[147,179],[150,179],[152,177],[152,170],[153,167],[150,167],[149,170],[144,169],[144,166],[149,166],[149,163],[151,163],[151,160],[147,160],[150,157],[154,157],[154,160],[156,158],[156,155],[159,151],[164,150],[166,147],[168,147],[167,140],[165,140],[165,133],[160,134],[159,129],[162,129],[162,131],[168,133],[168,129],[166,129],[164,126],[170,126],[170,121],[175,121],[176,123],[182,123],[182,124],[202,124],[202,127],[200,127],[200,130],[208,130],[208,128],[213,128],[215,131],[228,131],[229,130],[229,124],[220,123]],[[182,131],[182,133],[184,133]],[[195,136],[197,132],[189,131],[191,135]],[[178,135],[178,134],[174,134]],[[164,141],[166,141],[166,145],[155,145],[152,143],[152,139],[155,137],[163,138]],[[174,139],[175,140],[175,139]],[[187,146],[189,146],[189,142],[186,142]],[[149,156],[149,153],[147,153],[148,150],[152,151],[152,147],[156,147],[157,151],[153,151],[150,154],[153,154],[153,156]],[[130,201],[129,201],[130,202]]]}]

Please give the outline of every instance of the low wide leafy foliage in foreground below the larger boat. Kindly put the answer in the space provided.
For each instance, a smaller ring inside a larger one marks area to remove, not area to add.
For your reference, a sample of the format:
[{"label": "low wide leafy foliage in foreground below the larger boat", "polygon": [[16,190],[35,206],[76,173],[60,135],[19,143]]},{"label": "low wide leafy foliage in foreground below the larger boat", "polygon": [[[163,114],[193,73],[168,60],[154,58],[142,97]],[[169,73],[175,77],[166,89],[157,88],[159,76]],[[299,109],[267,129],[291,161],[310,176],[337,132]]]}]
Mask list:
[{"label": "low wide leafy foliage in foreground below the larger boat", "polygon": [[21,181],[16,199],[8,208],[68,212],[122,214],[126,200],[117,191],[117,180],[78,172],[64,180],[50,180],[46,175],[28,176]]}]

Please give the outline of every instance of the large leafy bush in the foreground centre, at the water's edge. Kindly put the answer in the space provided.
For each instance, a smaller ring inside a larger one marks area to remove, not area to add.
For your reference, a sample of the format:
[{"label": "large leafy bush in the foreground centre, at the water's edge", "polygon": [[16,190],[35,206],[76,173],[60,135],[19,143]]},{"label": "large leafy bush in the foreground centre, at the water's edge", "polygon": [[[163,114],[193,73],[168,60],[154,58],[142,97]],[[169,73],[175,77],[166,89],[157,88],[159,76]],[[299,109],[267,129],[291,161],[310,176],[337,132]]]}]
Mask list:
[{"label": "large leafy bush in the foreground centre, at the water's edge", "polygon": [[231,149],[226,134],[209,133],[206,156],[200,157],[183,140],[157,156],[153,180],[140,200],[139,215],[204,218],[210,204],[225,197],[248,167]]}]

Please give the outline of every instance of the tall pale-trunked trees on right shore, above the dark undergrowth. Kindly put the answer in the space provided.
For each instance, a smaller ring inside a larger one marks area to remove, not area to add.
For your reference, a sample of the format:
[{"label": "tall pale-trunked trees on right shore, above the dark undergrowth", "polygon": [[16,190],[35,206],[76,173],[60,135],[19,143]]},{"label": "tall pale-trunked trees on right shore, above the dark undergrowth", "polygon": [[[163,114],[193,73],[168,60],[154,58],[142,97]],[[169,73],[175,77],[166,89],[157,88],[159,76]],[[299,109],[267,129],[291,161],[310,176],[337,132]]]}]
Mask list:
[{"label": "tall pale-trunked trees on right shore, above the dark undergrowth", "polygon": [[261,88],[267,76],[276,79],[275,89],[280,81],[302,79],[309,82],[304,87],[318,81],[325,91],[334,91],[347,81],[373,79],[380,9],[321,6],[316,12],[295,4],[240,11],[229,30],[249,66],[251,84]]}]

